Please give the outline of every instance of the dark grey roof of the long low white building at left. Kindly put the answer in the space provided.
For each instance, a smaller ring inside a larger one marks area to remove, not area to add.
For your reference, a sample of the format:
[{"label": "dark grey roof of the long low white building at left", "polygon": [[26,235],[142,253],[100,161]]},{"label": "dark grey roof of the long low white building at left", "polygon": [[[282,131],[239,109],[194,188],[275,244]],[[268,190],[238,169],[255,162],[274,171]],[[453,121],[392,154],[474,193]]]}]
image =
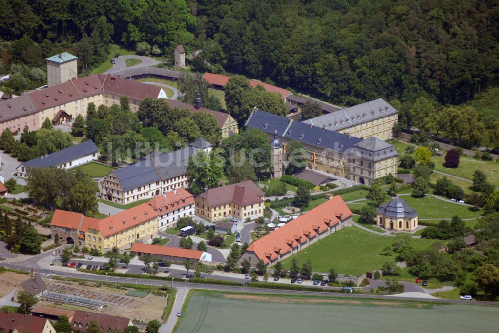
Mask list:
[{"label": "dark grey roof of the long low white building at left", "polygon": [[42,156],[27,162],[22,163],[24,167],[52,167],[60,166],[69,161],[74,161],[81,157],[97,153],[97,146],[95,146],[92,140],[87,140],[81,144],[74,145],[58,152],[48,154],[47,156]]}]

